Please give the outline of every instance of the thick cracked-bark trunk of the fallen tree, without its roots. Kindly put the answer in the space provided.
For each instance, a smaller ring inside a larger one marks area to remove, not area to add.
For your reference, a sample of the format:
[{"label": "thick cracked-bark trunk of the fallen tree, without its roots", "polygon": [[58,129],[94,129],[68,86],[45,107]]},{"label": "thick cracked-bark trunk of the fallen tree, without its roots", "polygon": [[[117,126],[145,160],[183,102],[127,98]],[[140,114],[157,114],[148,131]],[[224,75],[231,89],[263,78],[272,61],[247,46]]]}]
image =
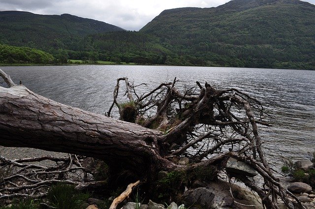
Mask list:
[{"label": "thick cracked-bark trunk of the fallen tree, without its roots", "polygon": [[176,167],[159,155],[161,132],[73,108],[28,90],[0,87],[0,145],[75,153],[138,173]]}]

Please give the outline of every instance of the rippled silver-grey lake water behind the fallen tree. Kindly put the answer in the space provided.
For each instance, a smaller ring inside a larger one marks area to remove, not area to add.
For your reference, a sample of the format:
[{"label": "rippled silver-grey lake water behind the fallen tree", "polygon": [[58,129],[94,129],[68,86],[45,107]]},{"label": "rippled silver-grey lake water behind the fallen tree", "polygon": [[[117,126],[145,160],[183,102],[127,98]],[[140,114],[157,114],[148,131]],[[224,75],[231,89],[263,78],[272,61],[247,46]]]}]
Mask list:
[{"label": "rippled silver-grey lake water behind the fallen tree", "polygon": [[16,84],[21,80],[35,93],[99,114],[108,111],[120,77],[135,84],[146,83],[148,90],[175,77],[179,87],[192,87],[199,81],[217,88],[237,88],[255,96],[271,115],[268,120],[272,127],[261,129],[271,164],[280,168],[283,157],[305,159],[315,152],[315,71],[121,65],[0,68]]}]

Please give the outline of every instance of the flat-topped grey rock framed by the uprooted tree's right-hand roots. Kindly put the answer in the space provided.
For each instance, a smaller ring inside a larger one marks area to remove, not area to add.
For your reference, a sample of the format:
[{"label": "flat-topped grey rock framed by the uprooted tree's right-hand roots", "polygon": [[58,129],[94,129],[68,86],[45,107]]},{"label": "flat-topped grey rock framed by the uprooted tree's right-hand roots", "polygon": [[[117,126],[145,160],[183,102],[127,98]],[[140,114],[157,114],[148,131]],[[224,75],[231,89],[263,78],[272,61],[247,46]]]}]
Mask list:
[{"label": "flat-topped grey rock framed by the uprooted tree's right-hand roots", "polygon": [[234,158],[228,159],[225,170],[232,176],[233,174],[245,175],[247,177],[254,177],[257,175],[257,172],[250,165]]}]

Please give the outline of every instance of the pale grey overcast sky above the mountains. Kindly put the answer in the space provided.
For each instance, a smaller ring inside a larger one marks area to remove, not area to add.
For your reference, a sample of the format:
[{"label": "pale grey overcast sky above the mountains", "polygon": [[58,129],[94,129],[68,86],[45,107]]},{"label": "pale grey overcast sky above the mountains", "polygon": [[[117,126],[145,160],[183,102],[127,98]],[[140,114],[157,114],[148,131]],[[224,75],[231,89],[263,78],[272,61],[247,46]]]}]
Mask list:
[{"label": "pale grey overcast sky above the mountains", "polygon": [[[19,10],[36,14],[72,14],[139,30],[164,9],[213,7],[229,0],[0,0],[0,11]],[[315,0],[305,0],[315,4]]]}]

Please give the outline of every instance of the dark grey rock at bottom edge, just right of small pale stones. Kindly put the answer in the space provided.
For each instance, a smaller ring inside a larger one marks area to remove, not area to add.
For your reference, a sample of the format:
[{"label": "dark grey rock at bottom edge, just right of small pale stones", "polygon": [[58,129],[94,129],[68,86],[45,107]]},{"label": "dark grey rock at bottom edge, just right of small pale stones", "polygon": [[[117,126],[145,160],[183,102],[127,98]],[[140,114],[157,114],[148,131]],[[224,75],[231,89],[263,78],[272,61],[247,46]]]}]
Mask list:
[{"label": "dark grey rock at bottom edge, just right of small pale stones", "polygon": [[189,206],[198,206],[203,209],[212,208],[212,201],[215,194],[206,187],[187,190],[184,195],[184,203]]}]

